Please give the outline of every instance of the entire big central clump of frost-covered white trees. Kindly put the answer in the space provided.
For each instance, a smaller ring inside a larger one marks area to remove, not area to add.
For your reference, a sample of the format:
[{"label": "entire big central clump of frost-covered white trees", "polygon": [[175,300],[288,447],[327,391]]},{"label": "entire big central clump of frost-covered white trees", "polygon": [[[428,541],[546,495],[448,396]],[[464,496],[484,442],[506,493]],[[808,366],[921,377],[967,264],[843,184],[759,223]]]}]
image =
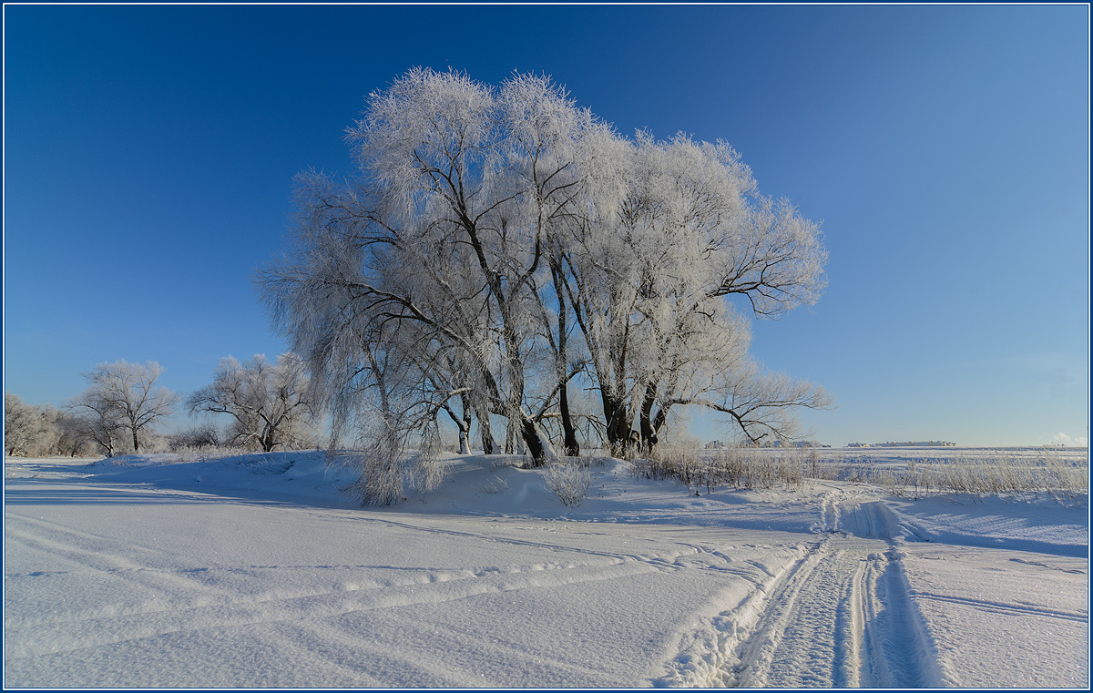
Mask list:
[{"label": "entire big central clump of frost-covered white trees", "polygon": [[[444,414],[493,453],[503,421],[543,463],[580,430],[654,446],[678,404],[752,441],[827,406],[748,355],[728,297],[814,303],[826,255],[728,144],[620,137],[545,77],[427,69],[371,94],[346,140],[356,175],[298,176],[294,245],[258,280],[337,430],[369,411],[398,432],[373,441],[435,435]],[[600,415],[578,422],[571,389]]]}]

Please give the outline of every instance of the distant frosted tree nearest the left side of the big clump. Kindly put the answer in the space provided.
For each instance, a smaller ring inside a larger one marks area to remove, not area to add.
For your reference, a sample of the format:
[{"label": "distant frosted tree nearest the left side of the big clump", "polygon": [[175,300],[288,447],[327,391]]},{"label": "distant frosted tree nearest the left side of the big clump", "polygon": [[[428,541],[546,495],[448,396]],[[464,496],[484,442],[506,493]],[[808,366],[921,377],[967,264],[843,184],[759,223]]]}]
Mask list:
[{"label": "distant frosted tree nearest the left side of the big clump", "polygon": [[220,362],[211,385],[187,398],[191,414],[227,414],[228,443],[269,453],[315,438],[319,408],[312,397],[304,362],[294,353],[270,363],[256,354],[246,363],[234,356]]}]

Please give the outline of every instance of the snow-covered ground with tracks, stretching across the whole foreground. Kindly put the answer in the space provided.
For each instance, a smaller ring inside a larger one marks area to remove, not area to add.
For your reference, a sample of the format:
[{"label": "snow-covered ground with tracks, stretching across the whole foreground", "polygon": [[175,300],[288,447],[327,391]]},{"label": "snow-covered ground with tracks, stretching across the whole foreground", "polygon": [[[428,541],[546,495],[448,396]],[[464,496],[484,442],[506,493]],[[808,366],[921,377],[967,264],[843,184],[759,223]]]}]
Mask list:
[{"label": "snow-covered ground with tracks, stretching across the whole foreground", "polygon": [[5,686],[1089,686],[1088,500],[447,459],[392,508],[320,453],[7,459]]}]

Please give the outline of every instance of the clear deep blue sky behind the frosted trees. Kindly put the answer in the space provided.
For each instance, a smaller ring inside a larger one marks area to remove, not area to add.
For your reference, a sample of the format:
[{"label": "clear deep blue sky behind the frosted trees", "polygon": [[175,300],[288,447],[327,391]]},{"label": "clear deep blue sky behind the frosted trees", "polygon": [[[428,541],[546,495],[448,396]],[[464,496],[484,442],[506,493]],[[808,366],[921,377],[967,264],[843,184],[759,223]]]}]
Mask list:
[{"label": "clear deep blue sky behind the frosted trees", "polygon": [[825,295],[752,345],[835,395],[821,443],[1088,438],[1089,64],[1088,5],[5,5],[4,391],[283,351],[293,175],[426,66],[725,139],[822,222]]}]

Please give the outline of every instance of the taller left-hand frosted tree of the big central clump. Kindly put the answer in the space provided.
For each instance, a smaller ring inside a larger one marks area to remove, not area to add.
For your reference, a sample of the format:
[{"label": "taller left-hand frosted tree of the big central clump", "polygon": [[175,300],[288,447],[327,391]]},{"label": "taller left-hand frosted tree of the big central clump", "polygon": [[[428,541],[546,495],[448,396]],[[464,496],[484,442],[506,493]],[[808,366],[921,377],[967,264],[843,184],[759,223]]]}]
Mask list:
[{"label": "taller left-hand frosted tree of the big central clump", "polygon": [[354,180],[299,178],[296,252],[261,280],[274,317],[317,364],[333,353],[317,342],[345,344],[317,334],[385,338],[392,322],[412,326],[424,351],[458,352],[456,379],[474,383],[480,426],[502,416],[537,461],[552,457],[526,389],[534,280],[554,227],[575,211],[591,144],[609,136],[545,78],[493,89],[410,71],[372,94],[350,129]]}]

